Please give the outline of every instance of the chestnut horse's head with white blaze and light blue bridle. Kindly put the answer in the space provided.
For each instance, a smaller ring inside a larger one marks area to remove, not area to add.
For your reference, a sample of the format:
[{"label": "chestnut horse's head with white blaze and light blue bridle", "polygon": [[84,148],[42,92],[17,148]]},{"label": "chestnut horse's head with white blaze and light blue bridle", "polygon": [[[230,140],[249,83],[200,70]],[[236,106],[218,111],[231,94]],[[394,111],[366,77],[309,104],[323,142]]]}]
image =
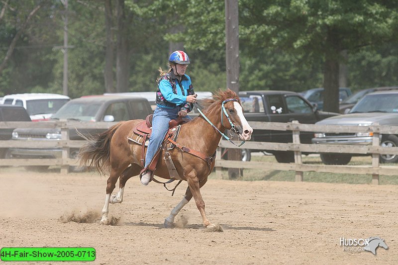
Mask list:
[{"label": "chestnut horse's head with white blaze and light blue bridle", "polygon": [[252,137],[253,129],[243,115],[243,108],[238,95],[227,89],[224,92],[224,96],[228,96],[228,98],[223,99],[221,103],[222,125],[226,129],[238,133],[242,140],[249,141]]}]

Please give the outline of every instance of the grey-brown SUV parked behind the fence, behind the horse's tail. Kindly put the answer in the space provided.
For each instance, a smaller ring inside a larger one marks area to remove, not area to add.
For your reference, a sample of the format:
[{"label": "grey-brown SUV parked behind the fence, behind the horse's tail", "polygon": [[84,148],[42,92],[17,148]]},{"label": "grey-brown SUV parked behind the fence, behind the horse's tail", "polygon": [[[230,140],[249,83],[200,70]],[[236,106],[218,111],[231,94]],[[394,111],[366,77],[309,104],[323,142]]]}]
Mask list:
[{"label": "grey-brown SUV parked behind the fence, behind the horse's tail", "polygon": [[[131,119],[145,119],[152,113],[151,106],[145,98],[127,95],[95,95],[70,100],[63,105],[51,120],[74,120],[74,121],[122,121]],[[105,129],[81,129],[81,133],[95,135]],[[69,130],[71,140],[83,140],[75,128]],[[12,133],[13,140],[43,140],[54,141],[61,139],[59,128],[16,128]],[[75,158],[79,152],[78,148],[70,149],[70,157]],[[38,148],[11,148],[10,153],[15,158],[61,158],[62,150],[38,149]],[[45,169],[43,166],[40,169]]]}]

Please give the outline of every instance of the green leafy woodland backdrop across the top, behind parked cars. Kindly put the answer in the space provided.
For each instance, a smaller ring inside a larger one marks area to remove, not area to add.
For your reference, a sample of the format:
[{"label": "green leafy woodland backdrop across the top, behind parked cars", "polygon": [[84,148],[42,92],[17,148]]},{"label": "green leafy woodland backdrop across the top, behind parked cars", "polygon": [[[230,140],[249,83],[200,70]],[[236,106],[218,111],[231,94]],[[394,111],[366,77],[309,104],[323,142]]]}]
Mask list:
[{"label": "green leafy woodland backdrop across the top, behind parked cars", "polygon": [[[59,0],[9,1],[12,10],[0,21],[0,61],[38,2],[44,5],[0,74],[0,95],[63,91],[64,6]],[[125,6],[126,91],[156,89],[158,68],[168,67],[170,42],[184,44],[192,60],[187,73],[197,91],[225,88],[224,1],[125,0]],[[397,6],[397,0],[239,0],[240,90],[321,87],[326,57],[343,60],[342,49],[348,50],[351,88],[397,86]],[[68,18],[69,95],[103,93],[103,1],[69,1]]]}]

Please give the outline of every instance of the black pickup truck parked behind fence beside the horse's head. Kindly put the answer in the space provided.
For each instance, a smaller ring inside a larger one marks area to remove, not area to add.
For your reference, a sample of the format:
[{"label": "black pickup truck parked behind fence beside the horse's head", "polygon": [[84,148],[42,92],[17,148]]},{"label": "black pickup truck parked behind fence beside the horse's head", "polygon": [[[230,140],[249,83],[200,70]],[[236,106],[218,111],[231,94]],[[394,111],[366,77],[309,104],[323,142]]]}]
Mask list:
[{"label": "black pickup truck parked behind fence beside the horse's head", "polygon": [[[291,122],[313,124],[339,113],[319,111],[300,94],[283,90],[241,91],[242,102],[247,121]],[[300,133],[301,143],[311,143],[312,133]],[[254,130],[252,140],[258,142],[291,143],[291,131]],[[253,151],[253,150],[252,150]],[[260,150],[254,150],[260,151]],[[250,154],[250,150],[243,150]],[[266,150],[272,153],[280,163],[294,162],[293,152]]]}]

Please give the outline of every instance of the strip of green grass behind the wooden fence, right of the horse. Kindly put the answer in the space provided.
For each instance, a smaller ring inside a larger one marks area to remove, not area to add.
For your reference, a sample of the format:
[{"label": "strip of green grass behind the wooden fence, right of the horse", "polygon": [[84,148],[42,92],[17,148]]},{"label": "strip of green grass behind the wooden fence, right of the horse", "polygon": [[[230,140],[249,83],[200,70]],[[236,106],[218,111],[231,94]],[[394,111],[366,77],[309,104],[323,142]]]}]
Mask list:
[{"label": "strip of green grass behind the wooden fence, right of the horse", "polygon": [[[275,162],[274,156],[256,155],[251,158],[251,161],[261,162]],[[303,156],[303,164],[322,165],[319,156]],[[372,165],[371,157],[353,157],[348,165]],[[389,166],[398,166],[398,164],[388,164]],[[209,178],[217,178],[213,172]],[[228,179],[228,170],[222,170],[222,178]],[[307,182],[325,182],[325,183],[348,183],[348,184],[371,184],[371,175],[359,174],[339,174],[339,173],[319,173],[319,172],[304,172],[303,179]],[[396,176],[383,176],[380,175],[379,184],[398,184],[398,174]],[[273,181],[295,181],[294,171],[279,171],[279,170],[243,170],[243,177],[239,180],[253,181],[253,180],[273,180]]]}]

